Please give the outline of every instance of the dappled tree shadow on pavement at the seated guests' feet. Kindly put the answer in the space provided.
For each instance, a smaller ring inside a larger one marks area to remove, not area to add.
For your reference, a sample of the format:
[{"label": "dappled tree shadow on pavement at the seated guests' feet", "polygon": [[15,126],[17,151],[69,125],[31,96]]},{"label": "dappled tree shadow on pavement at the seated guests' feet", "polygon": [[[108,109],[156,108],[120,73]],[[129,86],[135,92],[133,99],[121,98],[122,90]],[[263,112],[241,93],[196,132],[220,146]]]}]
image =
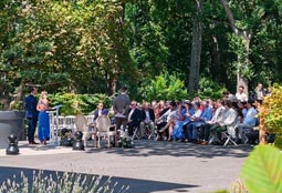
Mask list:
[{"label": "dappled tree shadow on pavement at the seated guests' feet", "polygon": [[136,140],[132,149],[112,148],[112,149],[87,149],[87,153],[107,152],[121,154],[123,156],[196,156],[212,159],[216,156],[246,158],[252,151],[250,145],[197,145],[180,142],[164,142],[150,140]]}]

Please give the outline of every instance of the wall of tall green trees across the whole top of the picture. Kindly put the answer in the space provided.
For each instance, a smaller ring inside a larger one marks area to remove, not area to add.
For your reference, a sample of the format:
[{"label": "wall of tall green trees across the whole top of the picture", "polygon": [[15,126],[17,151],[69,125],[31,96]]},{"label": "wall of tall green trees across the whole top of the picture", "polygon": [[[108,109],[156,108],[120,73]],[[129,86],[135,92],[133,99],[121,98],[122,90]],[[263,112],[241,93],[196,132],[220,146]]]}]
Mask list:
[{"label": "wall of tall green trees across the whole top of the picture", "polygon": [[3,0],[0,100],[33,84],[107,95],[129,85],[143,99],[161,74],[190,94],[201,79],[231,92],[238,78],[281,82],[281,16],[279,0]]}]

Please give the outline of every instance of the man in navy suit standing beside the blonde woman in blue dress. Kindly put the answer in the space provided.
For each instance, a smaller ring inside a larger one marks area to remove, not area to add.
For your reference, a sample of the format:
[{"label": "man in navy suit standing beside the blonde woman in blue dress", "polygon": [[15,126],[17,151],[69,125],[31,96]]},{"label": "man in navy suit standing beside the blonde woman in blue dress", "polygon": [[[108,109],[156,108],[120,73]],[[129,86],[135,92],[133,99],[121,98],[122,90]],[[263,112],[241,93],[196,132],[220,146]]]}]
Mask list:
[{"label": "man in navy suit standing beside the blonde woman in blue dress", "polygon": [[29,144],[38,144],[34,141],[34,133],[38,124],[38,110],[36,110],[36,104],[38,100],[35,98],[35,94],[38,93],[36,88],[32,88],[30,90],[30,94],[24,99],[24,108],[27,110],[27,119],[29,122],[29,129],[28,129],[28,139],[29,139]]}]

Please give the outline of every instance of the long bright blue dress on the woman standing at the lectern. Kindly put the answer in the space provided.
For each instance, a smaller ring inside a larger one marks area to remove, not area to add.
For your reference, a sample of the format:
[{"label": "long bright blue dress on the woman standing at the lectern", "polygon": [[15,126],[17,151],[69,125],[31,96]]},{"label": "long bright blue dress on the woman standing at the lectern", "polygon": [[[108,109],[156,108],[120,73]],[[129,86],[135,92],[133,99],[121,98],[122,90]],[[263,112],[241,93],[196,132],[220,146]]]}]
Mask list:
[{"label": "long bright blue dress on the woman standing at the lectern", "polygon": [[38,138],[41,142],[50,140],[50,121],[46,111],[39,112]]}]

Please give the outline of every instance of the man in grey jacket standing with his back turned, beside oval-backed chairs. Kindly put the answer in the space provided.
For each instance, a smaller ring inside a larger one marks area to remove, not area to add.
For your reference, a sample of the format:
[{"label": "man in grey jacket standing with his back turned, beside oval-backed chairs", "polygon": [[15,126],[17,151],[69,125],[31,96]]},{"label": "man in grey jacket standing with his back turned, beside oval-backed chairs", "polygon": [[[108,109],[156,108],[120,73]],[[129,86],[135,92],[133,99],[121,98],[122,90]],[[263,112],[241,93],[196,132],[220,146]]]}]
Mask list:
[{"label": "man in grey jacket standing with his back turned, beside oval-backed chairs", "polygon": [[127,88],[124,87],[122,88],[121,94],[113,100],[113,110],[115,112],[115,123],[117,130],[121,128],[121,125],[125,128],[127,123],[130,99],[126,93]]}]

